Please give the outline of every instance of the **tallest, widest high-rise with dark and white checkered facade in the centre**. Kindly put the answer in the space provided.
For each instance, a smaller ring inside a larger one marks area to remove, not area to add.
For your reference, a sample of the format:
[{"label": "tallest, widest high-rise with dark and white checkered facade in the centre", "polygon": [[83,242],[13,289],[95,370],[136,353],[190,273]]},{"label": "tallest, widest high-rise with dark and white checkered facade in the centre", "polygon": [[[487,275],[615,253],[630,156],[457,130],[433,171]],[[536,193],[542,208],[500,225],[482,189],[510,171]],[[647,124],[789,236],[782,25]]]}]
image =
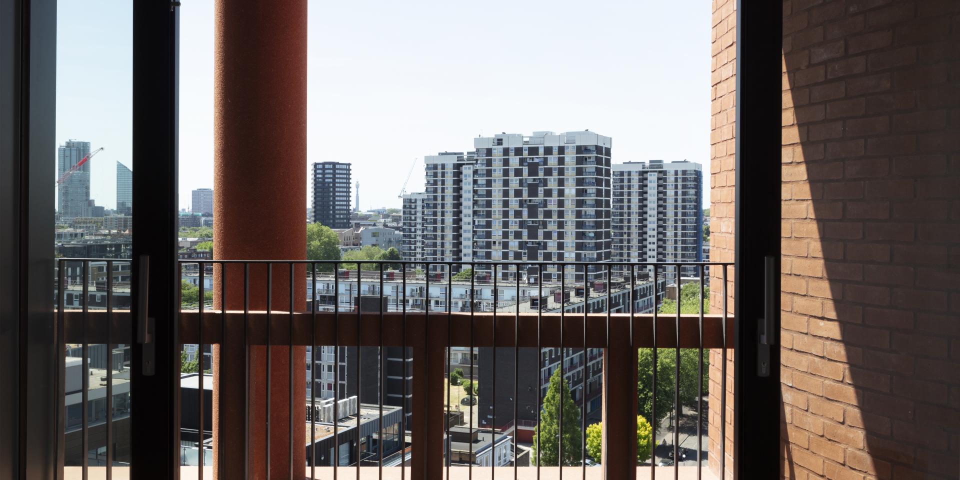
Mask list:
[{"label": "tallest, widest high-rise with dark and white checkered facade in the centre", "polygon": [[[611,144],[611,137],[588,131],[474,138],[473,259],[610,261]],[[564,268],[571,281],[606,276],[598,266]],[[490,267],[478,267],[484,269]],[[526,276],[538,270],[527,267]],[[512,278],[516,267],[497,274]],[[560,276],[558,267],[543,269],[544,281]]]}]

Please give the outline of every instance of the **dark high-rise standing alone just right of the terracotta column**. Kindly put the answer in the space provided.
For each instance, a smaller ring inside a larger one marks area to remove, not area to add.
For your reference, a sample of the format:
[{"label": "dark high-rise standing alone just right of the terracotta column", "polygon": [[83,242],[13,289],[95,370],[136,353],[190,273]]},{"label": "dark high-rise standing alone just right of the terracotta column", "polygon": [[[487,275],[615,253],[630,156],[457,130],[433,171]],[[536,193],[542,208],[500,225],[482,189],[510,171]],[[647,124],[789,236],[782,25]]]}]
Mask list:
[{"label": "dark high-rise standing alone just right of the terracotta column", "polygon": [[313,221],[329,228],[350,228],[350,164],[313,164]]}]

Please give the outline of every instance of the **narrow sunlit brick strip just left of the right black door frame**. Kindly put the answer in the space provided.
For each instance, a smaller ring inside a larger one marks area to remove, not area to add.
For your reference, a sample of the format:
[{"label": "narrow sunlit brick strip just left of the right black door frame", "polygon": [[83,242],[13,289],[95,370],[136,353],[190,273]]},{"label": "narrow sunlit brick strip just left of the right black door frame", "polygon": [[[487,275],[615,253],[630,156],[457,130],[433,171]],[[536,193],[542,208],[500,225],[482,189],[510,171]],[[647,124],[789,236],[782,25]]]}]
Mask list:
[{"label": "narrow sunlit brick strip just left of the right black door frame", "polygon": [[[733,120],[736,99],[736,2],[714,0],[712,17],[710,77],[710,261],[733,261]],[[723,272],[710,269],[710,311],[723,311]],[[733,269],[727,271],[727,308],[733,312]],[[731,346],[732,347],[732,346]],[[710,351],[709,438],[720,438],[720,396],[722,350]],[[726,456],[728,476],[732,474],[733,455],[733,351],[727,355]],[[708,464],[714,474],[720,471],[720,444],[709,443]]]}]

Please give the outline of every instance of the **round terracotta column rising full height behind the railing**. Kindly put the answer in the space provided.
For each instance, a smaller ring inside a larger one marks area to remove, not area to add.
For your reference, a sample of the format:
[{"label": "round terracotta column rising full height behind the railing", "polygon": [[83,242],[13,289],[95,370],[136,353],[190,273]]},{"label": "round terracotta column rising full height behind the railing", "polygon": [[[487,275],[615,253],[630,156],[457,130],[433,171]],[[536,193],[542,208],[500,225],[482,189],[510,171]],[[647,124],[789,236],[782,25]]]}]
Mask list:
[{"label": "round terracotta column rising full height behind the railing", "polygon": [[[215,1],[214,72],[214,255],[228,260],[306,258],[306,0]],[[267,308],[267,274],[250,269],[250,308]],[[290,272],[273,271],[272,309],[287,310]],[[227,291],[220,291],[226,275]],[[295,269],[294,303],[305,309],[305,269]],[[230,310],[244,307],[239,265],[217,269],[217,308],[226,294]],[[286,338],[286,318],[275,316],[273,338]],[[252,324],[252,329],[266,327]],[[250,348],[250,438],[245,432],[246,351],[242,323],[227,325],[222,348],[213,350],[214,471],[220,479],[243,478],[249,443],[252,478],[264,478],[267,421],[273,478],[303,477],[305,464],[305,349],[294,348],[293,425],[290,424],[290,351],[271,350],[270,412],[266,417],[266,360],[263,346]],[[293,429],[294,471],[289,468]],[[220,443],[224,443],[221,462]],[[225,471],[220,471],[223,464]]]}]

